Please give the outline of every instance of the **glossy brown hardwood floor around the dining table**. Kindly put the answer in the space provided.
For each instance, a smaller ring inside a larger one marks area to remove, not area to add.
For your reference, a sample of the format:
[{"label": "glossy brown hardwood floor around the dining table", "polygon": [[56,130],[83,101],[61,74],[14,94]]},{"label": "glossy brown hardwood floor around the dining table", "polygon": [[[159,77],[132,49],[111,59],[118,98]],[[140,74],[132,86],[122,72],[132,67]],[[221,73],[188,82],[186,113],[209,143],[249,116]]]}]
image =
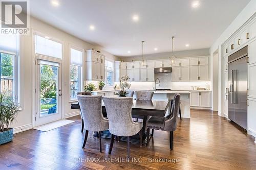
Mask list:
[{"label": "glossy brown hardwood floor around the dining table", "polygon": [[[15,134],[14,140],[0,145],[0,169],[255,169],[256,145],[238,126],[219,117],[217,112],[191,110],[191,118],[178,122],[174,148],[169,150],[169,133],[154,131],[148,148],[131,144],[130,162],[107,158],[126,157],[125,142],[99,139],[89,132],[82,149],[80,116],[74,123],[48,131],[28,130]],[[95,159],[87,159],[95,158]],[[97,162],[97,158],[100,159]],[[150,159],[149,159],[150,158]],[[179,161],[156,162],[161,158]],[[86,160],[87,159],[87,160]],[[151,162],[154,159],[155,162]]]}]

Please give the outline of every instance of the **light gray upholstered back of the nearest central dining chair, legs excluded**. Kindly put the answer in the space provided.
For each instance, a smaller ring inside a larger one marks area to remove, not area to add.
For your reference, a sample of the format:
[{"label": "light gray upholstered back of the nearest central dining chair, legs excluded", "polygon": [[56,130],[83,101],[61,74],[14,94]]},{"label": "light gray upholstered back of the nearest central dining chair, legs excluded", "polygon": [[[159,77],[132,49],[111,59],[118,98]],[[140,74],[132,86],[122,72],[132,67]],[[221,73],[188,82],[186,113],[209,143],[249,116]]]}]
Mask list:
[{"label": "light gray upholstered back of the nearest central dining chair, legs excluded", "polygon": [[129,136],[135,123],[132,120],[133,98],[114,98],[102,96],[106,114],[109,118],[110,133],[117,136]]}]

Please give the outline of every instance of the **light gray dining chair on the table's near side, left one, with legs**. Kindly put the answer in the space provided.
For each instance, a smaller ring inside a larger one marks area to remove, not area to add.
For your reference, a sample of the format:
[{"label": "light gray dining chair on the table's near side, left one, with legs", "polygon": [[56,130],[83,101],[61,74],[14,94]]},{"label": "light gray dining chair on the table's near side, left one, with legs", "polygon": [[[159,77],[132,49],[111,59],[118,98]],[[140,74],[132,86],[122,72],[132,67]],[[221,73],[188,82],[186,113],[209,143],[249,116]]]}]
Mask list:
[{"label": "light gray dining chair on the table's near side, left one, with legs", "polygon": [[84,118],[84,141],[82,148],[86,145],[89,131],[99,133],[99,144],[101,152],[101,131],[109,129],[109,120],[102,115],[101,95],[77,95],[82,117]]}]

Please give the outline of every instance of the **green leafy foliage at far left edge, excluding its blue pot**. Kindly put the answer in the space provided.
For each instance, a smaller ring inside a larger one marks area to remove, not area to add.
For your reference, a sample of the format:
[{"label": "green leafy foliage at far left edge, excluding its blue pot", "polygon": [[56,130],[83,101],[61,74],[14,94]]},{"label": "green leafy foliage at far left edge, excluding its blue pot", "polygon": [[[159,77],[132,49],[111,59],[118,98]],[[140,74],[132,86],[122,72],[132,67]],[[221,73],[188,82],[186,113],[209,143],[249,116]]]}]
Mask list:
[{"label": "green leafy foliage at far left edge, excluding its blue pot", "polygon": [[7,95],[0,94],[0,132],[8,130],[11,123],[14,123],[18,113],[18,106]]}]

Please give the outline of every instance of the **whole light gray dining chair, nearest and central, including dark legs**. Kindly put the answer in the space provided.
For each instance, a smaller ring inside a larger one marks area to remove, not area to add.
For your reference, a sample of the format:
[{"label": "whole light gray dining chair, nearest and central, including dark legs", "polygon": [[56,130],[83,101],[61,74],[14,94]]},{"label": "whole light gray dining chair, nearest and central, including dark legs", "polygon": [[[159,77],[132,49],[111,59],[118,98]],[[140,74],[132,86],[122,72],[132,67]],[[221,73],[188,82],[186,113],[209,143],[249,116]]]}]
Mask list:
[{"label": "whole light gray dining chair, nearest and central, including dark legs", "polygon": [[132,120],[132,103],[133,98],[111,98],[102,96],[106,114],[109,118],[109,131],[111,135],[111,143],[109,154],[111,154],[114,136],[127,137],[127,156],[130,158],[130,136],[140,132],[140,143],[142,144],[142,123],[133,122]]}]

